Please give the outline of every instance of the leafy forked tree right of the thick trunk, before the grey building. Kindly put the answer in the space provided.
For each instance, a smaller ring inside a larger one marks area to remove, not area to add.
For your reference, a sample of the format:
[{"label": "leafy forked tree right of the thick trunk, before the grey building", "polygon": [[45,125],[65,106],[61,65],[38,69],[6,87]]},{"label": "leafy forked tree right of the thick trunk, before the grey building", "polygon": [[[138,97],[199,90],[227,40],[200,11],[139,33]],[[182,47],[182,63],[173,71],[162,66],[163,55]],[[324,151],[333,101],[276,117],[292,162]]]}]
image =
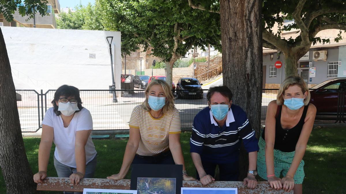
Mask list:
[{"label": "leafy forked tree right of the thick trunk, before the grey building", "polygon": [[[194,9],[220,12],[219,0],[188,0]],[[316,37],[326,29],[339,29],[334,40],[342,39],[346,30],[345,0],[263,0],[262,1],[262,36],[263,46],[282,51],[285,55],[285,75],[297,74],[297,61],[317,42],[329,43],[328,37]],[[285,25],[284,21],[294,21]],[[278,25],[277,31],[273,27]],[[283,38],[282,33],[298,29],[296,34]]]}]

